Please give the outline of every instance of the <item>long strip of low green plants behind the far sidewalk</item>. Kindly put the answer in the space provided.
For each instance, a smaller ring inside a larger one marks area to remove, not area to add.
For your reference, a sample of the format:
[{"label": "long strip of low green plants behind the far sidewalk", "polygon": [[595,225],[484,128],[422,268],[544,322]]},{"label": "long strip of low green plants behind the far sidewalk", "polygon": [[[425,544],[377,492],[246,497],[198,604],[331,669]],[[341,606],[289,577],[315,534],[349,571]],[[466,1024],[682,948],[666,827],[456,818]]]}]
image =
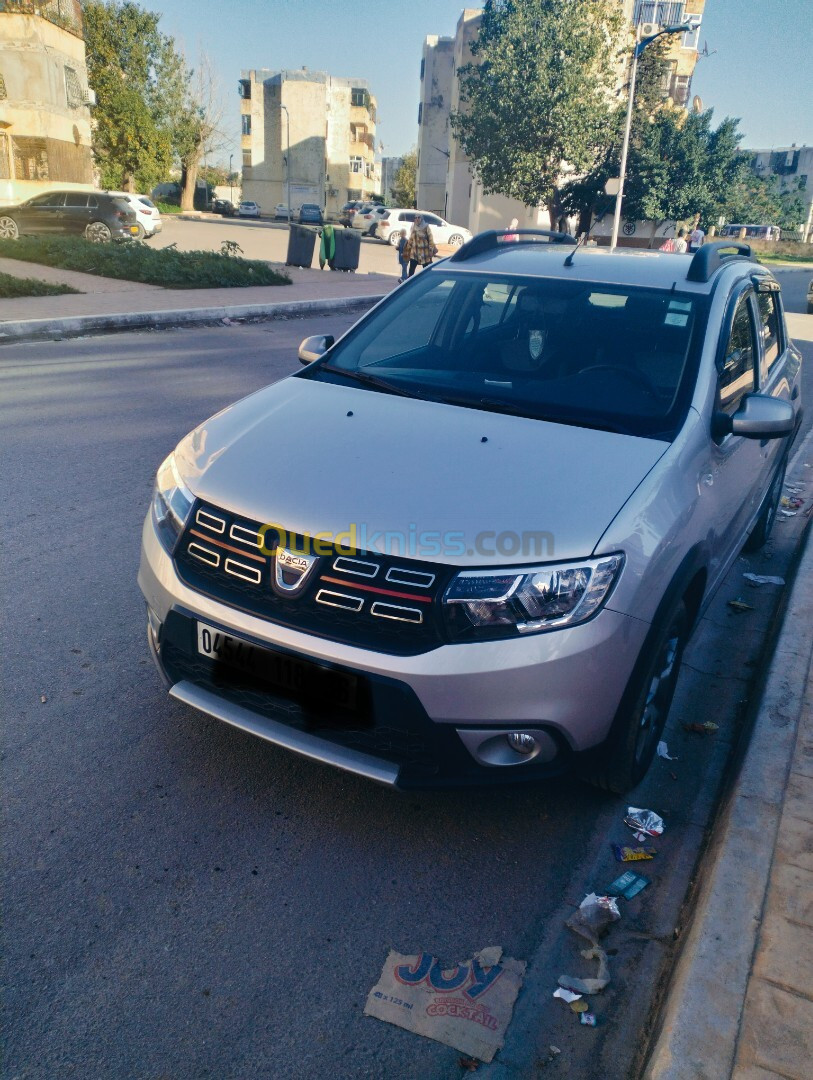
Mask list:
[{"label": "long strip of low green plants behind the far sidewalk", "polygon": [[174,246],[148,247],[135,241],[93,244],[82,237],[21,237],[0,240],[0,256],[165,288],[290,284],[286,274],[267,262],[241,258],[234,251],[238,247],[229,244],[225,252],[179,252]]}]

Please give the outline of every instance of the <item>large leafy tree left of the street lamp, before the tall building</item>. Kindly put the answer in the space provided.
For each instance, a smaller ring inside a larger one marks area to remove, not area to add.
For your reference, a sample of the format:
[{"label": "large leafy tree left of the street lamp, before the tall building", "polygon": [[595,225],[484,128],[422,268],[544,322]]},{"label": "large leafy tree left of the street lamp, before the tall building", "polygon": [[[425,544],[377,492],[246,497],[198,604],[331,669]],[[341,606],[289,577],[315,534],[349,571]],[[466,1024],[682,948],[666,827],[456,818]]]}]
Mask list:
[{"label": "large leafy tree left of the street lamp, before the tall building", "polygon": [[486,193],[559,219],[563,163],[588,173],[611,141],[623,25],[616,0],[486,0],[451,117]]}]

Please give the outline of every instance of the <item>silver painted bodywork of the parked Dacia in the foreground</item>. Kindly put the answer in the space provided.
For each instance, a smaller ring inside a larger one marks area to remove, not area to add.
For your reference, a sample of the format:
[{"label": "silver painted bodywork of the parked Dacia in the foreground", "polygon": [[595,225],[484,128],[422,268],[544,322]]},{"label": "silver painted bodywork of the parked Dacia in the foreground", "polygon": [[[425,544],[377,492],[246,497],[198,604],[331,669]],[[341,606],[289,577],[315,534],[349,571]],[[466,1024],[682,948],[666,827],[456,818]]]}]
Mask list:
[{"label": "silver painted bodywork of the parked Dacia in the foreground", "polygon": [[[475,255],[459,270],[490,270],[492,258]],[[501,274],[563,273],[561,253],[516,245],[499,260]],[[686,280],[690,264],[691,256],[580,249],[565,271],[584,282],[663,288],[679,282],[683,292],[710,297],[694,396],[672,442],[288,378],[205,421],[176,450],[178,472],[197,499],[253,521],[282,523],[294,534],[337,535],[350,523],[364,523],[368,539],[376,532],[407,536],[416,523],[451,529],[465,537],[464,550],[434,553],[432,563],[459,568],[545,562],[506,554],[506,544],[501,552],[503,535],[542,537],[552,563],[621,552],[623,571],[595,618],[527,637],[442,644],[412,656],[360,648],[190,588],[148,514],[139,585],[151,611],[153,652],[158,627],[177,610],[248,642],[397,680],[433,725],[453,729],[474,761],[494,773],[521,772],[500,768],[521,766],[519,755],[492,753],[492,734],[510,725],[547,732],[568,752],[600,744],[670,583],[691,592],[696,618],[753,528],[788,445],[782,438],[710,437],[727,313],[753,280],[770,275],[735,260],[712,281],[694,283]],[[792,397],[796,405],[800,357],[786,335],[784,348],[759,390]],[[523,491],[544,492],[544,499]],[[384,550],[380,537],[367,550],[377,545]],[[376,754],[339,745],[323,732],[292,730],[284,717],[235,705],[212,687],[182,679],[171,692],[320,760],[387,783],[402,781],[399,768]]]}]

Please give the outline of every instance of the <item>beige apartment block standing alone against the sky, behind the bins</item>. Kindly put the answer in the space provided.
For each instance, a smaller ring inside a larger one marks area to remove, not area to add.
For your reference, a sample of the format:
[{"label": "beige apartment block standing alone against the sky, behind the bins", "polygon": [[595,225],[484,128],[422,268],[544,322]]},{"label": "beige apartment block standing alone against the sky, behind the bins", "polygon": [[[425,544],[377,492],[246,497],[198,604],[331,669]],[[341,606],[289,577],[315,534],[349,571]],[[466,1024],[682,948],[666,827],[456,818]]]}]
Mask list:
[{"label": "beige apartment block standing alone against the sky, behind the bins", "polygon": [[366,80],[262,69],[243,72],[240,93],[244,199],[270,213],[287,202],[289,179],[294,208],[312,202],[333,214],[380,192],[376,98]]}]

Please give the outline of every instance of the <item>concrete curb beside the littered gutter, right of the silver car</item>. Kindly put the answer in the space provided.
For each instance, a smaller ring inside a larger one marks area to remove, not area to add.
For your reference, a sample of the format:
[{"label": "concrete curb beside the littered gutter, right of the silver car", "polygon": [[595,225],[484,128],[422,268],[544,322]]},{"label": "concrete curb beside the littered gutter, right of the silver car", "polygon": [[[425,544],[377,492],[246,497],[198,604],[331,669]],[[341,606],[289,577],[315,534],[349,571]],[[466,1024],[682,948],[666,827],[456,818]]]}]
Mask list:
[{"label": "concrete curb beside the littered gutter, right of the silver car", "polygon": [[813,652],[811,603],[809,528],[754,731],[714,827],[691,929],[643,1080],[731,1076]]}]

